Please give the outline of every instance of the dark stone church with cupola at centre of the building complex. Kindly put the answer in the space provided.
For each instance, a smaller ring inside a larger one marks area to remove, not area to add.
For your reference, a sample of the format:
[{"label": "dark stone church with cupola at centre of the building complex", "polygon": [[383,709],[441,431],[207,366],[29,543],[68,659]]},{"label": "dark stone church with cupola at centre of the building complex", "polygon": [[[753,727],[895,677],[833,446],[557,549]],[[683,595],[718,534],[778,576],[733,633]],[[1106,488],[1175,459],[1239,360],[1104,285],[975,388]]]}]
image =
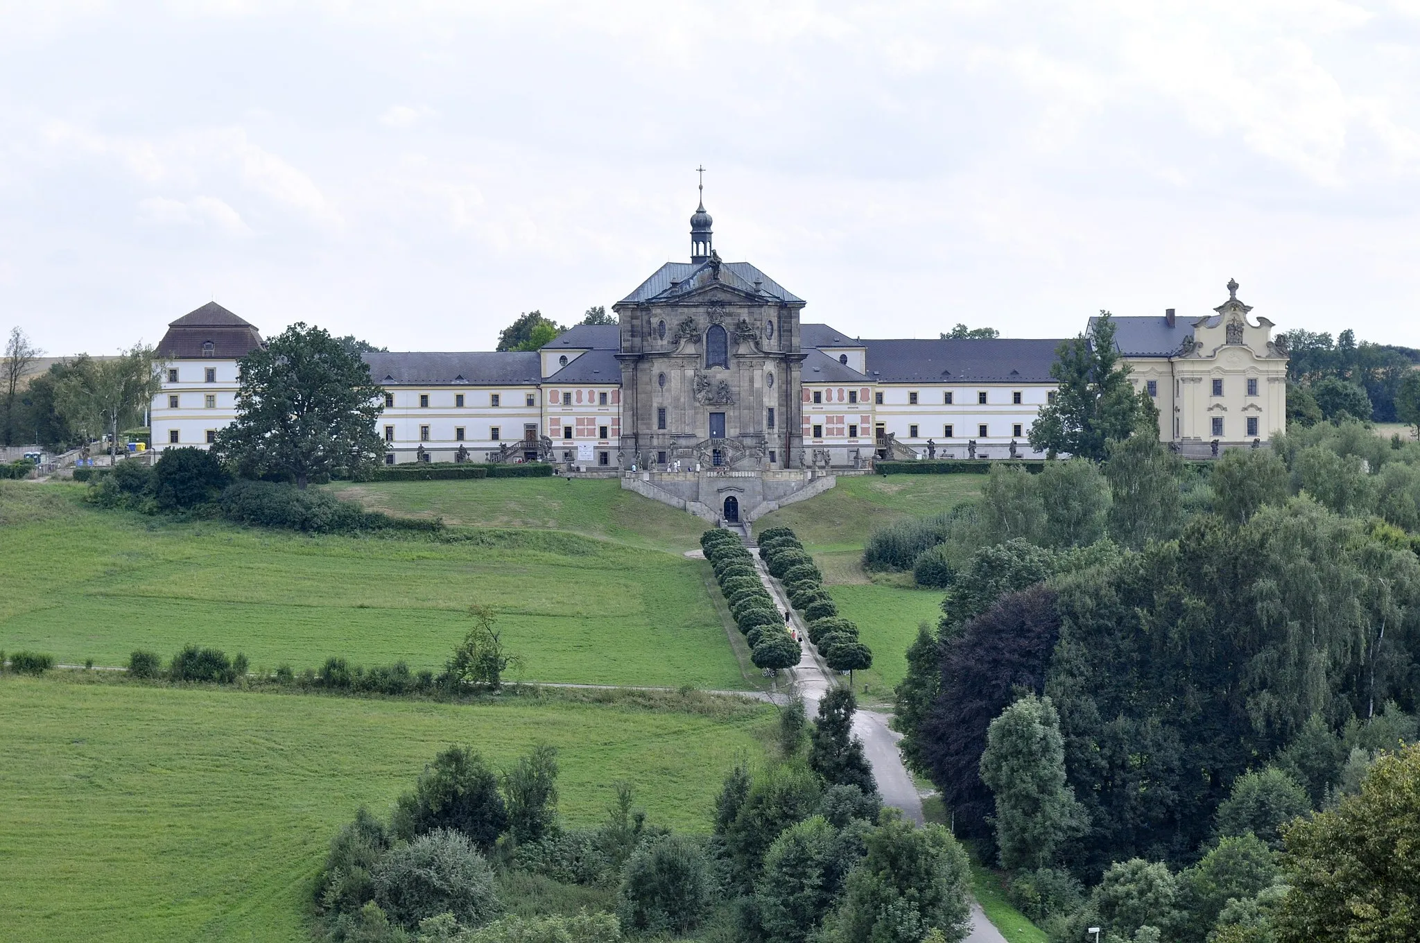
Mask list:
[{"label": "dark stone church with cupola at centre of the building complex", "polygon": [[621,324],[625,464],[758,470],[802,454],[804,300],[713,246],[690,217],[690,261],[666,263],[612,307]]}]

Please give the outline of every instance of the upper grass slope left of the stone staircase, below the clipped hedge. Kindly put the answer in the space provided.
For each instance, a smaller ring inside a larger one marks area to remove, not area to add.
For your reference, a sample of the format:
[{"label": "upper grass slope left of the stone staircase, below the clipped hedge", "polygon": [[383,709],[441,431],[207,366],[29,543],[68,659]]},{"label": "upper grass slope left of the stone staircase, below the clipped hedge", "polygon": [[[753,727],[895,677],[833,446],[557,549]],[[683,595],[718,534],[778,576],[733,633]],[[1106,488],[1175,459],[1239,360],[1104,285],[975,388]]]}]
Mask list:
[{"label": "upper grass slope left of the stone staircase, below the clipped hedge", "polygon": [[699,547],[703,521],[623,491],[615,479],[483,479],[331,486],[371,510],[447,524],[564,530],[653,550]]}]

